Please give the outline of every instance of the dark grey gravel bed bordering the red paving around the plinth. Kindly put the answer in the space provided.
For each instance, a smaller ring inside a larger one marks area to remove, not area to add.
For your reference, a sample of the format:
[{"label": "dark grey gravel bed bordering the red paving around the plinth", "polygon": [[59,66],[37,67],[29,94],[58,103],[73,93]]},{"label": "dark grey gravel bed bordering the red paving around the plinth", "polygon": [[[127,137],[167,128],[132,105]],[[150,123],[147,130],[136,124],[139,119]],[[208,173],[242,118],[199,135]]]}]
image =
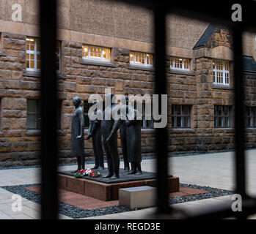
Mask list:
[{"label": "dark grey gravel bed bordering the red paving around the plinth", "polygon": [[[32,192],[32,191],[29,191],[28,189],[25,189],[26,187],[29,187],[29,186],[40,186],[40,184],[2,186],[1,188],[6,189],[7,191],[15,193],[17,195],[21,195],[21,197],[31,200],[34,203],[40,204],[40,194],[37,194],[36,192]],[[180,184],[180,186],[188,187],[191,189],[202,189],[209,192],[205,194],[200,194],[200,195],[189,195],[189,196],[171,198],[170,204],[186,203],[193,200],[202,200],[202,199],[221,197],[221,196],[233,194],[233,192],[231,191],[224,190],[224,189],[211,188],[209,186],[198,186],[194,184]],[[117,213],[126,212],[126,211],[130,211],[130,210],[129,208],[123,205],[112,205],[105,208],[83,210],[74,205],[69,205],[66,203],[59,202],[59,213],[64,214],[66,216],[70,216],[73,219],[81,219],[81,218],[91,217],[91,216],[101,216],[106,214],[117,214]]]}]

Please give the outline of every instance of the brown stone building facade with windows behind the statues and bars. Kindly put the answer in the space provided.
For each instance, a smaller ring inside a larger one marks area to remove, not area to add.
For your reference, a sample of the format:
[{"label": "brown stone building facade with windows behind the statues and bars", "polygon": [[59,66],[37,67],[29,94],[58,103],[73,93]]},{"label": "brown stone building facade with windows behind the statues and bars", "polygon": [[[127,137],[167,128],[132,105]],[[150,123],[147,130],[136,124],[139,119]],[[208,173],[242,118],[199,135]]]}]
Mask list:
[{"label": "brown stone building facade with windows behind the statues and bars", "polygon": [[[12,20],[15,3],[21,5],[21,22]],[[39,163],[40,59],[34,60],[40,58],[37,7],[34,0],[5,0],[0,7],[0,167]],[[81,97],[86,112],[89,95],[104,94],[105,88],[115,94],[153,94],[153,12],[98,0],[59,1],[58,12],[59,162],[74,162],[70,156],[73,97]],[[233,149],[232,46],[232,33],[222,26],[168,16],[170,154]],[[94,53],[101,57],[90,59],[87,50],[91,57]],[[246,146],[254,148],[255,35],[249,33],[244,34],[244,76]],[[87,128],[84,132],[87,135]],[[144,155],[154,154],[153,135],[152,123],[144,122]],[[92,156],[91,140],[85,140],[85,152]]]}]

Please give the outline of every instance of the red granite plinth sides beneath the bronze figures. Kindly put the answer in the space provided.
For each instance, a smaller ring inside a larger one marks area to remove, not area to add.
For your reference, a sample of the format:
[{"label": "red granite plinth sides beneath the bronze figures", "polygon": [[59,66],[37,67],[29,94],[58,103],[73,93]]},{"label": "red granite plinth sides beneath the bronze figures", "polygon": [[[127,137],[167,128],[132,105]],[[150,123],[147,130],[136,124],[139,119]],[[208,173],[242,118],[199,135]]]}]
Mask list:
[{"label": "red granite plinth sides beneath the bronze figures", "polygon": [[[72,176],[60,175],[59,189],[65,189],[70,192],[76,192],[81,195],[94,197],[99,200],[118,200],[119,189],[135,186],[153,186],[156,187],[156,179],[142,181],[128,181],[115,184],[104,184],[97,181],[90,181]],[[169,192],[179,192],[179,178],[169,177]]]}]

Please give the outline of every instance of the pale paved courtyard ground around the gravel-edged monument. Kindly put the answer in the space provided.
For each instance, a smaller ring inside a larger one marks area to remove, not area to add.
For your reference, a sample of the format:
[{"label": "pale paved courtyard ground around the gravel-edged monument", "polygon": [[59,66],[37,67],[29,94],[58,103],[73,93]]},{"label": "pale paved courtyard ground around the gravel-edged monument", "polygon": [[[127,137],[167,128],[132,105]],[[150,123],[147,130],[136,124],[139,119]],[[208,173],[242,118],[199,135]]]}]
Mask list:
[{"label": "pale paved courtyard ground around the gravel-edged monument", "polygon": [[[200,154],[192,156],[176,156],[169,158],[169,173],[180,177],[180,183],[211,186],[218,189],[232,190],[233,178],[233,152],[216,154]],[[256,196],[256,150],[246,151],[247,191],[249,195]],[[142,170],[154,172],[156,159],[145,159]],[[93,165],[88,165],[92,167]],[[123,167],[121,162],[121,167]],[[75,170],[76,165],[59,167],[59,170]],[[40,168],[23,168],[0,170],[0,186],[13,186],[40,183]],[[12,211],[12,193],[0,188],[0,219],[39,219],[40,205],[23,198],[22,211]],[[230,196],[216,197],[206,200],[197,200],[174,205],[186,211],[195,211],[207,208],[208,205],[221,204],[230,200]],[[85,219],[147,219],[156,208],[146,208],[139,211],[129,211],[106,216],[95,216]],[[252,216],[251,218],[255,218]],[[70,219],[59,214],[59,219]]]}]

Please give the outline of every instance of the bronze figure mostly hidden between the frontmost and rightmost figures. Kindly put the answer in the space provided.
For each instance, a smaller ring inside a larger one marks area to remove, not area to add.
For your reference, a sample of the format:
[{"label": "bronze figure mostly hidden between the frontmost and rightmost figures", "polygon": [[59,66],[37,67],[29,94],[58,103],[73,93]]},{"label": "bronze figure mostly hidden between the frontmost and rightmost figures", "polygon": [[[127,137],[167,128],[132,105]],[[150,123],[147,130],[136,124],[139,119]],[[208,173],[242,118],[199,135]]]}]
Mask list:
[{"label": "bronze figure mostly hidden between the frontmost and rightmost figures", "polygon": [[[125,96],[126,105],[129,104],[128,96]],[[129,162],[128,162],[128,149],[127,149],[127,139],[126,139],[127,125],[125,124],[125,120],[121,120],[120,124],[120,140],[122,146],[122,157],[125,165],[125,170],[129,170]]]}]

